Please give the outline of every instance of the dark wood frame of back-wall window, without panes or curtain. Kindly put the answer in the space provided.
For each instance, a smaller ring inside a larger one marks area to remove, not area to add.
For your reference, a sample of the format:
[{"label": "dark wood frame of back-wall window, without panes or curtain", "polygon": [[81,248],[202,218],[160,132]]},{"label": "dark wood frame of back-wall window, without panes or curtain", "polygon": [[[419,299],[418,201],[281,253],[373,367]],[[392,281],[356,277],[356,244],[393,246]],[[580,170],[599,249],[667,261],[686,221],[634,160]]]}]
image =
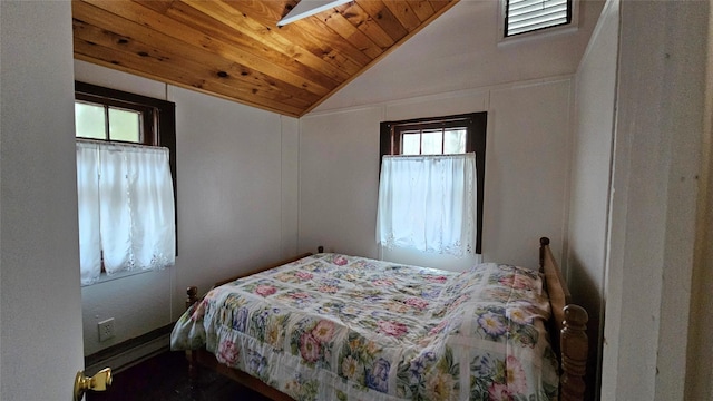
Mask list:
[{"label": "dark wood frame of back-wall window, without panes or curtain", "polygon": [[379,166],[384,155],[401,154],[401,137],[404,130],[466,128],[466,153],[476,154],[476,253],[482,253],[482,202],[486,180],[486,129],[488,113],[470,113],[445,117],[417,118],[401,121],[383,121],[380,125]]}]

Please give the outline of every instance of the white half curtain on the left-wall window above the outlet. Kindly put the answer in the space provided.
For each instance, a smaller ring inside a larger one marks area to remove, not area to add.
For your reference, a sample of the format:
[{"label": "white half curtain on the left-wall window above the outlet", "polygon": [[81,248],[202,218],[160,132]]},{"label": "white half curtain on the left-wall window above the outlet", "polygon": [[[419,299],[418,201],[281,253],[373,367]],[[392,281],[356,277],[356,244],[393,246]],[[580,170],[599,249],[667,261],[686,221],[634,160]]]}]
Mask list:
[{"label": "white half curtain on the left-wall window above the outlet", "polygon": [[81,284],[175,264],[176,224],[168,149],[77,141]]}]

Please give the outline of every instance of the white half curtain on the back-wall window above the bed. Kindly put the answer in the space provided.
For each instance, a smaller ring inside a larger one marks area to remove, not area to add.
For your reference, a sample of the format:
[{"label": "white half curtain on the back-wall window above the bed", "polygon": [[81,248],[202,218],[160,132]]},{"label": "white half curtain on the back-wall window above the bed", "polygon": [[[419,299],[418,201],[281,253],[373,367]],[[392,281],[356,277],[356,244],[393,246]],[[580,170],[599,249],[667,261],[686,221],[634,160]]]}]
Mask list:
[{"label": "white half curtain on the back-wall window above the bed", "polygon": [[476,244],[476,155],[384,156],[377,241],[463,256]]}]

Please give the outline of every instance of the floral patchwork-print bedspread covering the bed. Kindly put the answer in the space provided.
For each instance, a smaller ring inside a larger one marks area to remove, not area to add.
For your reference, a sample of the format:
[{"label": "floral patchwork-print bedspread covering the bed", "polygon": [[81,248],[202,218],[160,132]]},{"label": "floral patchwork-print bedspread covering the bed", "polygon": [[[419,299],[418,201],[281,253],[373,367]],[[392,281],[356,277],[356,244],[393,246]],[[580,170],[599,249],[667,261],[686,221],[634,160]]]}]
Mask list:
[{"label": "floral patchwork-print bedspread covering the bed", "polygon": [[531,270],[318,254],[211,291],[170,341],[295,400],[550,400],[548,316]]}]

